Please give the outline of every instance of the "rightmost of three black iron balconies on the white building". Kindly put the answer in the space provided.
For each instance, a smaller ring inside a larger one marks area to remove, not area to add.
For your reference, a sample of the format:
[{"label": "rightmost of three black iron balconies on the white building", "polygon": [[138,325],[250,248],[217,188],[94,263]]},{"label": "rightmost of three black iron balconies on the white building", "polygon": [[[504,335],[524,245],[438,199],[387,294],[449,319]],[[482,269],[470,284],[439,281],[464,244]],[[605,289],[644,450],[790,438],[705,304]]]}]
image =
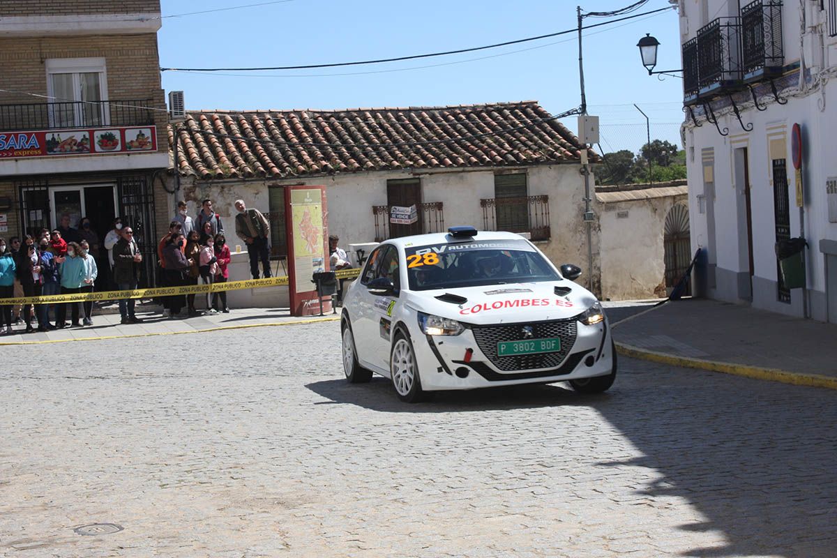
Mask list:
[{"label": "rightmost of three black iron balconies on the white building", "polygon": [[745,81],[781,74],[782,3],[756,0],[741,10],[742,72]]}]

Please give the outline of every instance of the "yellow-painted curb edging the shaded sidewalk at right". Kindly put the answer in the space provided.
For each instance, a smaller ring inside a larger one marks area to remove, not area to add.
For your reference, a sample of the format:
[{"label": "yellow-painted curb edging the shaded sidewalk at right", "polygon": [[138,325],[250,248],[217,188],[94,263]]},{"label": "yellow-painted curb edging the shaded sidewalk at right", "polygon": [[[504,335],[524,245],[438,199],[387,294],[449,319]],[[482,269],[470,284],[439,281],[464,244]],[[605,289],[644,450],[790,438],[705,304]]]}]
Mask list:
[{"label": "yellow-painted curb edging the shaded sidewalk at right", "polygon": [[779,381],[785,384],[793,384],[794,386],[824,387],[826,389],[837,390],[837,378],[823,376],[821,374],[799,374],[797,372],[779,370],[778,368],[762,368],[760,366],[733,364],[732,362],[706,361],[700,358],[675,356],[625,345],[624,343],[619,343],[619,341],[616,341],[616,352],[620,355],[630,356],[644,361],[670,364],[672,366],[700,368],[711,372],[744,376],[756,380]]}]

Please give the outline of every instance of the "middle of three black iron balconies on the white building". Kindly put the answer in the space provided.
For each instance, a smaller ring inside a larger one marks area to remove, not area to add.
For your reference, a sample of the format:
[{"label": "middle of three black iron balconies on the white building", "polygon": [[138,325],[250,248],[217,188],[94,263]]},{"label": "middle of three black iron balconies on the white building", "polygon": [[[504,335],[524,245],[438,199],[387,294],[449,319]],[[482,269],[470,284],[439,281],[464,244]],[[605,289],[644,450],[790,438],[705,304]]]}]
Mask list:
[{"label": "middle of three black iron balconies on the white building", "polygon": [[697,30],[697,68],[701,93],[742,79],[739,18],[716,18]]}]

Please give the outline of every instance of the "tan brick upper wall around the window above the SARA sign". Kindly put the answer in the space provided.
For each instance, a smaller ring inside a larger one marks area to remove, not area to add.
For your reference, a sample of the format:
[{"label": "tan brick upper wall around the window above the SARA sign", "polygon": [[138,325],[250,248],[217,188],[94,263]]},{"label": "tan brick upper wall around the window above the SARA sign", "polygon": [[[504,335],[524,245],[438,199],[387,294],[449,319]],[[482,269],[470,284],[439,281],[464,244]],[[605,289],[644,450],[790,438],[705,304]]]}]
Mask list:
[{"label": "tan brick upper wall around the window above the SARA sign", "polygon": [[[168,151],[168,117],[160,82],[157,34],[0,38],[0,75],[6,90],[47,95],[46,59],[104,57],[109,100],[154,101],[157,146]],[[0,105],[44,103],[30,95],[0,92]]]}]

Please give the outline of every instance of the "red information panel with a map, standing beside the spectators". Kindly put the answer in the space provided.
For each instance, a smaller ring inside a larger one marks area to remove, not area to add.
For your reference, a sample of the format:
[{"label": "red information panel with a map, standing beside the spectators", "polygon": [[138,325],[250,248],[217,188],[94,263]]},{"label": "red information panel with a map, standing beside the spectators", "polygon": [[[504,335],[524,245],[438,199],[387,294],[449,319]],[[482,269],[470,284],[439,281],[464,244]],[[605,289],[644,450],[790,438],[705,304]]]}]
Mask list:
[{"label": "red information panel with a map, standing beside the spectators", "polygon": [[[319,313],[313,274],[328,271],[326,235],[326,187],[285,188],[288,238],[290,312],[292,315]],[[311,302],[316,301],[316,305]],[[324,309],[326,306],[324,305]],[[331,307],[327,307],[331,310]]]}]

